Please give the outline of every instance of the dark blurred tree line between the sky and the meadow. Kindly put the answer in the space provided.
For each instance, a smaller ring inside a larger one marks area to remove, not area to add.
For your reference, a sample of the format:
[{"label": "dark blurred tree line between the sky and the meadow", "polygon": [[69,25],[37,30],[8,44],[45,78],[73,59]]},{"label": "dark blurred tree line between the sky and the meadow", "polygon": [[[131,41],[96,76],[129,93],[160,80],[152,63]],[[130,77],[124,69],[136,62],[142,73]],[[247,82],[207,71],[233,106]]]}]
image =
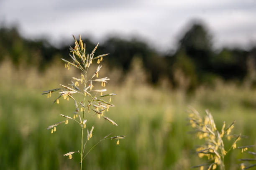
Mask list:
[{"label": "dark blurred tree line between the sky and the meadow", "polygon": [[[86,42],[87,50],[94,48],[95,44],[90,39],[83,41]],[[31,41],[23,38],[17,28],[0,28],[0,61],[10,58],[17,67],[25,63],[44,70],[55,58],[69,58],[68,51],[69,44],[56,48],[44,39]],[[168,77],[174,87],[184,86],[187,90],[194,90],[201,84],[213,84],[215,78],[239,82],[252,78],[248,75],[255,71],[255,51],[256,47],[248,51],[225,47],[214,51],[209,31],[203,24],[194,23],[181,36],[174,53],[159,53],[146,42],[120,37],[109,37],[100,44],[97,53],[110,53],[105,58],[109,68],[121,69],[124,74],[131,67],[133,58],[141,58],[148,82],[156,84],[161,77]],[[183,81],[179,77],[186,80],[185,85],[181,85]],[[120,82],[122,80],[123,76]],[[255,80],[247,82],[255,84]]]}]

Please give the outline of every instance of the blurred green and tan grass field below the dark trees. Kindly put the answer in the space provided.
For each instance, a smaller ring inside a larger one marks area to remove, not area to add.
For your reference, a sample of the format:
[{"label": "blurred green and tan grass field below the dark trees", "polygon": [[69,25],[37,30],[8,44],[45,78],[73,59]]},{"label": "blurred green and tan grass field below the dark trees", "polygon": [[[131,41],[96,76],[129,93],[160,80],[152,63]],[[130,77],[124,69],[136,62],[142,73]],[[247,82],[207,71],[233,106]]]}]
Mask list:
[{"label": "blurred green and tan grass field below the dark trees", "polygon": [[[64,120],[59,114],[72,117],[74,111],[70,100],[61,99],[60,104],[52,104],[58,94],[52,94],[49,99],[41,95],[42,91],[58,87],[70,78],[69,74],[60,76],[61,72],[56,70],[40,75],[34,70],[11,69],[8,64],[0,66],[0,170],[79,169],[78,154],[72,160],[63,156],[79,150],[77,124],[71,121],[61,124],[53,134],[46,130],[49,125]],[[130,81],[121,86],[107,85],[108,91],[118,95],[112,98],[115,107],[106,115],[118,127],[97,119],[92,112],[87,115],[90,119],[87,128],[95,126],[87,150],[109,133],[127,137],[120,140],[120,145],[113,140],[100,143],[86,157],[83,169],[189,170],[200,164],[205,160],[194,153],[195,146],[201,142],[189,133],[189,106],[201,114],[209,109],[218,129],[224,120],[226,124],[236,120],[232,132],[248,136],[238,146],[256,143],[256,90],[218,83],[215,88],[202,87],[186,94],[182,90]],[[226,169],[238,169],[238,159],[242,157],[250,156],[241,154],[240,150],[228,154]]]}]

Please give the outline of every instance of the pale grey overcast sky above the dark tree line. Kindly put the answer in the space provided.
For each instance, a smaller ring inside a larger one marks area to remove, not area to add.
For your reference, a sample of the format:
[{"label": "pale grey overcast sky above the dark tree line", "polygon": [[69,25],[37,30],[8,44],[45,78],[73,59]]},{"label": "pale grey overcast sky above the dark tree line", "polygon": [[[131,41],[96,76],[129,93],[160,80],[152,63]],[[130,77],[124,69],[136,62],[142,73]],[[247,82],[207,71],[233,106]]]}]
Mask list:
[{"label": "pale grey overcast sky above the dark tree line", "polygon": [[52,43],[118,34],[167,50],[193,19],[207,25],[217,48],[256,43],[256,0],[0,0],[0,23]]}]

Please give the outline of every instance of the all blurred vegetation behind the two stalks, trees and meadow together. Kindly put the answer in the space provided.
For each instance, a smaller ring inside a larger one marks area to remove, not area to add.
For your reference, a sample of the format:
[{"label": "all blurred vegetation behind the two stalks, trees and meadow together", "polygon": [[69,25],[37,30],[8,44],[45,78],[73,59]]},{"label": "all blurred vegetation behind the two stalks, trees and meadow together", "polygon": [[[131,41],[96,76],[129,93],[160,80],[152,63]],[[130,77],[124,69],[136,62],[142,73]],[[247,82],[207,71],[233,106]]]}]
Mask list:
[{"label": "all blurred vegetation behind the two stalks, trees and meadow together", "polygon": [[[95,44],[84,41],[91,51]],[[207,29],[195,23],[170,53],[137,39],[112,37],[100,43],[97,54],[111,54],[104,58],[102,71],[111,79],[108,90],[118,94],[113,97],[116,107],[107,114],[119,126],[112,128],[91,114],[94,132],[97,137],[110,132],[127,137],[119,146],[111,140],[98,145],[84,169],[188,170],[199,164],[193,150],[199,141],[188,133],[188,106],[202,114],[209,109],[218,129],[224,120],[236,120],[233,132],[248,136],[238,146],[255,144],[256,48],[214,51],[211,41]],[[68,58],[68,48],[24,39],[16,28],[0,29],[1,170],[78,169],[78,155],[76,161],[63,156],[78,146],[80,132],[72,128],[76,124],[58,126],[54,134],[46,130],[60,119],[59,113],[72,115],[73,104],[67,103],[72,101],[52,104],[53,98],[41,95],[77,74],[65,70],[59,59]],[[89,145],[101,139],[97,137]],[[249,156],[233,151],[226,169],[239,168],[238,158]]]}]

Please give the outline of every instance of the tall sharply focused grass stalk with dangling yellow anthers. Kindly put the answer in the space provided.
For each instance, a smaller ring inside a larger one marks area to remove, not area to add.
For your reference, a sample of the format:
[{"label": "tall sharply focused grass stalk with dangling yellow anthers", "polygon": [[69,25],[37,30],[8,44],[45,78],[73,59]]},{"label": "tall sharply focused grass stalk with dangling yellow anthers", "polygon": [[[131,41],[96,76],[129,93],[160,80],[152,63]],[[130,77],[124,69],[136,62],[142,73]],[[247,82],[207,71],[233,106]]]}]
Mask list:
[{"label": "tall sharply focused grass stalk with dangling yellow anthers", "polygon": [[[73,36],[74,37],[74,36]],[[117,140],[117,145],[119,145],[119,140],[124,139],[125,136],[115,136],[115,137],[109,137],[110,134],[105,136],[102,140],[97,142],[95,145],[90,148],[89,151],[85,153],[85,146],[87,141],[92,138],[92,131],[94,129],[94,126],[91,127],[89,130],[87,128],[87,137],[86,141],[84,142],[84,129],[86,129],[86,123],[87,123],[87,115],[89,114],[90,110],[92,110],[95,115],[97,115],[97,118],[100,119],[100,117],[103,117],[108,122],[112,123],[115,126],[118,126],[113,120],[111,120],[108,117],[104,116],[105,111],[108,112],[110,107],[114,107],[113,104],[111,104],[111,96],[114,96],[116,94],[110,93],[110,94],[103,94],[107,91],[105,88],[106,83],[110,80],[108,77],[98,78],[99,71],[101,69],[101,65],[98,65],[97,69],[92,75],[88,75],[88,70],[92,64],[93,60],[97,60],[97,64],[100,64],[100,62],[103,60],[103,57],[107,56],[108,54],[102,54],[99,56],[94,56],[94,53],[97,49],[97,46],[92,50],[91,53],[86,53],[85,51],[85,43],[83,44],[81,36],[79,36],[79,41],[76,40],[74,37],[74,48],[70,47],[70,58],[72,59],[72,62],[69,62],[63,58],[65,62],[65,68],[69,70],[70,66],[74,66],[75,68],[79,69],[81,71],[81,77],[76,78],[72,77],[71,84],[69,86],[65,86],[60,84],[61,88],[58,89],[52,89],[48,91],[44,91],[43,94],[47,94],[47,97],[51,97],[51,93],[55,91],[59,91],[59,96],[54,100],[54,103],[59,104],[59,100],[61,97],[63,97],[64,100],[69,101],[69,99],[72,99],[74,101],[75,105],[75,112],[73,113],[73,117],[69,117],[68,115],[60,114],[62,117],[65,118],[64,121],[52,124],[47,129],[51,130],[51,133],[54,133],[56,131],[56,127],[59,124],[65,123],[68,124],[68,120],[72,120],[75,123],[79,124],[79,127],[81,128],[81,148],[78,151],[74,152],[68,152],[64,156],[69,156],[69,159],[72,159],[72,155],[74,153],[80,154],[80,170],[82,170],[82,162],[84,158],[87,156],[87,154],[100,142],[107,139],[115,139]],[[93,84],[100,83],[103,89],[93,89]],[[79,85],[80,84],[80,85]],[[77,101],[79,96],[82,96],[83,101],[79,102]],[[106,101],[108,99],[108,101]],[[79,104],[79,106],[78,106]],[[80,112],[79,112],[80,111]],[[87,114],[86,114],[87,113]]]}]

